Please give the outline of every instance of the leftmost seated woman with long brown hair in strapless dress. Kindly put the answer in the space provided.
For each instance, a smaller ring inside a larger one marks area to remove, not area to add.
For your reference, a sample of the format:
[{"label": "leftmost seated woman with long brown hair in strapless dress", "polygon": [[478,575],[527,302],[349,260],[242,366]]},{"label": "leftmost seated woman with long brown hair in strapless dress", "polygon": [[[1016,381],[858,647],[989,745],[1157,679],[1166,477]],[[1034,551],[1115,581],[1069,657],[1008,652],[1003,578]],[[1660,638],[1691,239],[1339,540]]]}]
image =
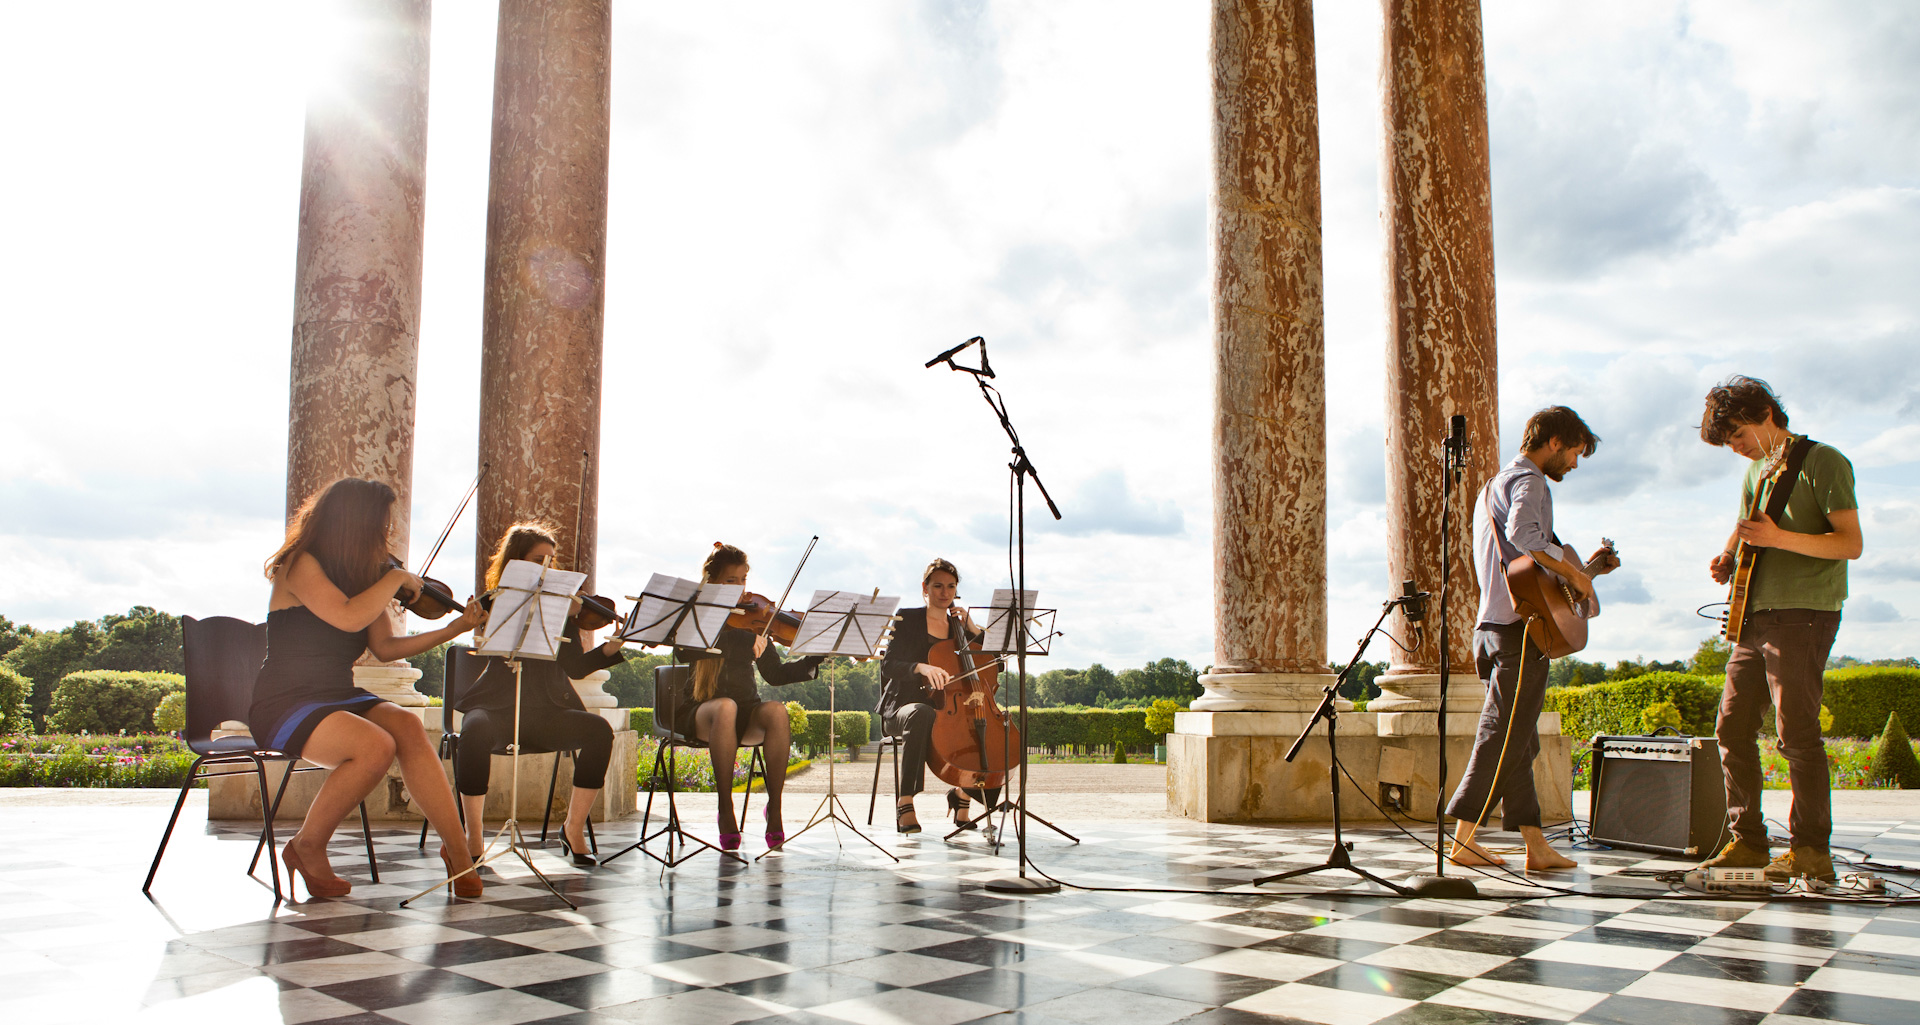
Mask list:
[{"label": "leftmost seated woman with long brown hair in strapless dress", "polygon": [[[420,578],[392,564],[394,489],[342,478],[315,491],[267,559],[267,660],[253,683],[246,722],[253,743],[332,772],[286,843],[286,870],[311,896],[346,896],[353,887],[326,862],[326,841],[399,758],[407,793],[440,833],[447,875],[472,866],[453,791],[420,720],[353,685],[353,662],[382,662],[451,641],[480,624],[480,607],[428,633],[394,632],[396,597],[419,595]],[[453,881],[459,896],[480,896],[480,877]]]}]

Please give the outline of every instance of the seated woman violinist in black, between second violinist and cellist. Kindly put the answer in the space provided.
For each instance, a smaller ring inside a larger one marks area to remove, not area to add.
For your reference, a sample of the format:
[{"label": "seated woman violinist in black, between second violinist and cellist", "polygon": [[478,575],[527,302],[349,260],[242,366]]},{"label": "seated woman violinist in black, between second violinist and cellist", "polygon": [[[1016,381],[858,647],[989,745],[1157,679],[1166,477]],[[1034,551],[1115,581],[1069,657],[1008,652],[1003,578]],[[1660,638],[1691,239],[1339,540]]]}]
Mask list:
[{"label": "seated woman violinist in black, between second violinist and cellist", "polygon": [[[701,566],[707,584],[747,584],[747,553],[714,541],[714,551]],[[793,729],[787,706],[780,701],[760,701],[753,670],[768,685],[783,687],[814,678],[826,660],[808,655],[781,662],[766,633],[741,626],[724,626],[714,635],[720,655],[703,649],[674,649],[674,656],[693,666],[693,706],[676,708],[674,731],[707,743],[714,762],[714,793],[720,795],[720,848],[737,850],[741,829],[733,820],[733,756],[741,745],[764,745],[766,751],[766,846],[787,841],[780,820],[780,795],[787,785],[787,752],[793,749]]]}]

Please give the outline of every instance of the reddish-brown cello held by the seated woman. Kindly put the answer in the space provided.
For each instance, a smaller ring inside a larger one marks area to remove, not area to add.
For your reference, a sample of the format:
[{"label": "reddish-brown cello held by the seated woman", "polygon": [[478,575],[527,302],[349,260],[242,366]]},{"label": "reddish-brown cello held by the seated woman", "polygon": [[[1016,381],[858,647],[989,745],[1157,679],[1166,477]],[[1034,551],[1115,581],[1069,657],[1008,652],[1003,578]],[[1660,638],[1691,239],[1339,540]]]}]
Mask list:
[{"label": "reddish-brown cello held by the seated woman", "polygon": [[[1020,727],[993,701],[1000,660],[975,660],[981,643],[968,641],[962,624],[948,610],[947,637],[927,649],[927,664],[948,674],[927,743],[927,768],[948,787],[991,791],[1006,783],[1006,772],[1020,764],[1027,749]],[[977,704],[968,701],[973,695],[981,697]]]}]

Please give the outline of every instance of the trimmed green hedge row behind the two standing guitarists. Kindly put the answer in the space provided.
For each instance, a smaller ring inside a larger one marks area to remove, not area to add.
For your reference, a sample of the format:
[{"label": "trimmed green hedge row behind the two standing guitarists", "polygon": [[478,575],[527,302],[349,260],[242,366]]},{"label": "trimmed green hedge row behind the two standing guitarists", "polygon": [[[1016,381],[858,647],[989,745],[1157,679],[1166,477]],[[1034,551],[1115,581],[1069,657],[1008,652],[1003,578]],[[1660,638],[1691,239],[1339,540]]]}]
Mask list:
[{"label": "trimmed green hedge row behind the two standing guitarists", "polygon": [[[1718,678],[1649,672],[1609,683],[1553,687],[1546,695],[1546,710],[1561,714],[1561,733],[1569,737],[1630,735],[1642,731],[1640,712],[1645,706],[1667,701],[1680,710],[1684,733],[1711,737],[1722,687],[1724,681]],[[1901,722],[1920,722],[1920,670],[1901,666],[1832,670],[1826,674],[1820,703],[1834,714],[1826,735],[1876,737],[1889,714],[1899,714]],[[1772,716],[1763,722],[1763,731],[1772,733]]]}]

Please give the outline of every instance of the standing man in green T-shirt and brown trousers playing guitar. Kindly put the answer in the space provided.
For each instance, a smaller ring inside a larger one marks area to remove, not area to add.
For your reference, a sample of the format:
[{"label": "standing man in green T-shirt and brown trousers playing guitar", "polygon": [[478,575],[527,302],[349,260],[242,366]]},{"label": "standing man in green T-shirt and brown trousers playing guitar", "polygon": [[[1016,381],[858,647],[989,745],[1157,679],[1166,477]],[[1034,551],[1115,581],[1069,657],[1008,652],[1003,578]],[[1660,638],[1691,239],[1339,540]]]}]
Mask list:
[{"label": "standing man in green T-shirt and brown trousers playing guitar", "polygon": [[[1860,557],[1860,512],[1853,463],[1832,445],[1788,430],[1788,411],[1763,380],[1732,376],[1707,392],[1699,436],[1749,459],[1740,522],[1707,570],[1734,578],[1741,547],[1757,549],[1745,614],[1730,626],[1732,653],[1715,737],[1726,774],[1726,816],[1734,839],[1701,868],[1764,868],[1766,879],[1834,881],[1834,827],[1820,741],[1826,656],[1847,599],[1847,560]],[[1761,752],[1755,735],[1766,706],[1778,708],[1780,754],[1788,760],[1791,843],[1768,860],[1761,822]]]}]

